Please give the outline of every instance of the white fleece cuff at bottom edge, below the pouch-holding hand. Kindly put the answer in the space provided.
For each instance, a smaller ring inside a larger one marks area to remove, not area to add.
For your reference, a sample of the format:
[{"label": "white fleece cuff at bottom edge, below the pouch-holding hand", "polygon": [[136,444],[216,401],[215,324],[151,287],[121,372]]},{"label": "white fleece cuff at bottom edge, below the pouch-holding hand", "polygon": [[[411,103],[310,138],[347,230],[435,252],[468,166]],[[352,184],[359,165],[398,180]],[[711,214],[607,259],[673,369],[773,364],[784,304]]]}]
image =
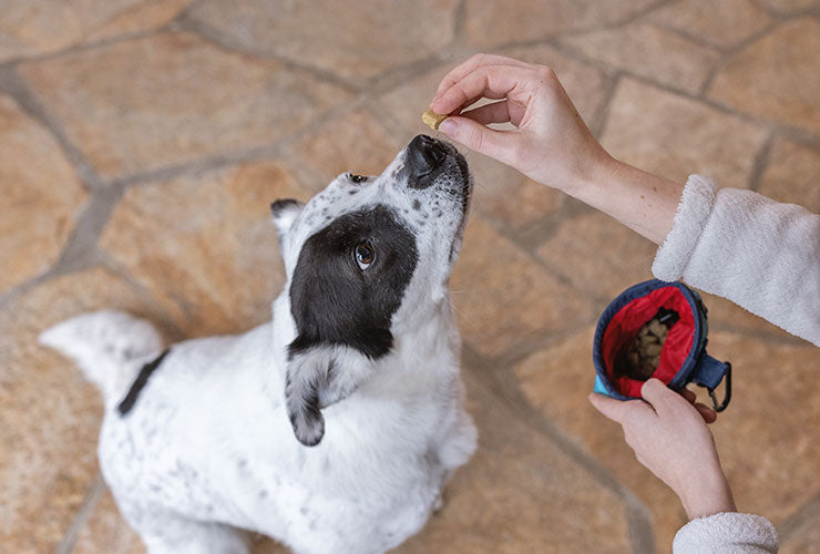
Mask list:
[{"label": "white fleece cuff at bottom edge, below the pouch-holding hand", "polygon": [[777,531],[762,515],[726,512],[693,520],[677,532],[673,554],[773,554]]}]

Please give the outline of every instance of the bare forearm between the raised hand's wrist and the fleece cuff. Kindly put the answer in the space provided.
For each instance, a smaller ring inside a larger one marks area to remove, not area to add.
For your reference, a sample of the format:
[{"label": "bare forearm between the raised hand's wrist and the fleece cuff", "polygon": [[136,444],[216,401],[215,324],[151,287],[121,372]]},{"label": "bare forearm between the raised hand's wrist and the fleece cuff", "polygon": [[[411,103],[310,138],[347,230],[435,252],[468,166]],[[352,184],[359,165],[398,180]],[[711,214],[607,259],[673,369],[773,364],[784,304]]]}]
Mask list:
[{"label": "bare forearm between the raised hand's wrist and the fleece cuff", "polygon": [[672,229],[684,185],[607,156],[564,188],[655,244]]}]

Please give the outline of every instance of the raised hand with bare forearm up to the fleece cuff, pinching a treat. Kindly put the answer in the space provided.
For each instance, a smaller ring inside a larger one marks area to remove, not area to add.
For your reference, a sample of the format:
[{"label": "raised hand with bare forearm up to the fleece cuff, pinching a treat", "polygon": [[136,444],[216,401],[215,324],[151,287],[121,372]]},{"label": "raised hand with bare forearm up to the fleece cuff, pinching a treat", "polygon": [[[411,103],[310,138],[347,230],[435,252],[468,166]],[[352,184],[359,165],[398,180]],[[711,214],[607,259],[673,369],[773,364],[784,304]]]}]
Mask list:
[{"label": "raised hand with bare forearm up to the fleece cuff, pinching a treat", "polygon": [[[464,111],[478,100],[499,100]],[[575,110],[557,75],[500,55],[476,54],[444,76],[430,109],[438,130],[527,177],[563,191],[660,244],[683,185],[613,158]],[[495,131],[510,122],[516,131]]]}]

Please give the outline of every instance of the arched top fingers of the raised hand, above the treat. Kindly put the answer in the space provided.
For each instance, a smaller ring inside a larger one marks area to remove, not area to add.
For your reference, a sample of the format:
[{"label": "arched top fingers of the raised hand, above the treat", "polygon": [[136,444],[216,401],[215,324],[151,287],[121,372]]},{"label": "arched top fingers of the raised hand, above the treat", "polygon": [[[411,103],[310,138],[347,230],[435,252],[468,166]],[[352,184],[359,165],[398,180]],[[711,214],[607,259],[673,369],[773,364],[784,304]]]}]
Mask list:
[{"label": "arched top fingers of the raised hand, above the treat", "polygon": [[525,86],[539,82],[536,71],[531,68],[482,65],[442,92],[439,98],[433,100],[430,107],[435,113],[453,113],[457,107],[474,98],[522,96],[529,99],[527,94],[515,94],[515,92],[521,92]]}]

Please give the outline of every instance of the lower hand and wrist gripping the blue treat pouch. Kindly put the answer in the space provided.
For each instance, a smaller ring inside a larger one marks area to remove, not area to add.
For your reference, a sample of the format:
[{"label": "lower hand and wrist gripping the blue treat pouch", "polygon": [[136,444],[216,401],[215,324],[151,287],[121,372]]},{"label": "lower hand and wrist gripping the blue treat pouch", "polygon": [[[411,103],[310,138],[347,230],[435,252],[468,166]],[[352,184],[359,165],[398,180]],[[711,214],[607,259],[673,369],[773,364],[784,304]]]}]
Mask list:
[{"label": "lower hand and wrist gripping the blue treat pouch", "polygon": [[715,411],[695,403],[694,392],[677,393],[658,379],[647,380],[640,394],[643,400],[622,401],[592,393],[590,402],[621,424],[638,462],[675,491],[690,520],[737,511],[706,427]]}]

